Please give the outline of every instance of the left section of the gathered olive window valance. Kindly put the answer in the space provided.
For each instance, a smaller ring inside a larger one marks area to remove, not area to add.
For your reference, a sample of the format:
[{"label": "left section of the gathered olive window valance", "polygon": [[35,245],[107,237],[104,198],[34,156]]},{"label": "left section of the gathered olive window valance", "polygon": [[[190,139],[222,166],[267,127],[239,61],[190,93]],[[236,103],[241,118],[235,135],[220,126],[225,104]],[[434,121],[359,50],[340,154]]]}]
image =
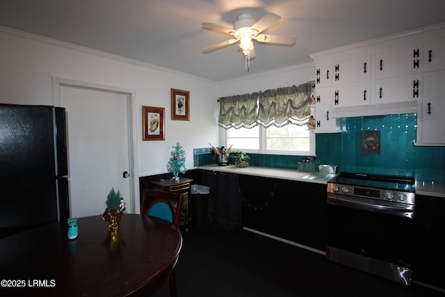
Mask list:
[{"label": "left section of the gathered olive window valance", "polygon": [[259,92],[221,97],[218,125],[229,128],[253,128],[257,126]]}]

